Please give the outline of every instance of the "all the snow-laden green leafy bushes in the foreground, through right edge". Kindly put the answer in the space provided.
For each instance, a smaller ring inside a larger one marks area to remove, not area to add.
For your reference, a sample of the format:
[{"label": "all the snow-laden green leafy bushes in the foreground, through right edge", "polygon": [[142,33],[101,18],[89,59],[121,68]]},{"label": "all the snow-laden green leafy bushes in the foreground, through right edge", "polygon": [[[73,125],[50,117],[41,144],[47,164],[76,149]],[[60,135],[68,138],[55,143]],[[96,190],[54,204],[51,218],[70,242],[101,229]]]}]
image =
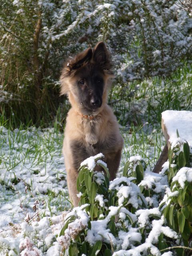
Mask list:
[{"label": "all the snow-laden green leafy bushes in the foreground, through right edge", "polygon": [[[146,169],[140,157],[131,157],[123,176],[110,183],[100,158],[101,154],[88,158],[80,168],[80,206],[66,216],[58,238],[62,252],[190,255],[192,154],[188,143],[178,139],[170,148],[161,174]],[[104,172],[93,172],[97,164]]]}]

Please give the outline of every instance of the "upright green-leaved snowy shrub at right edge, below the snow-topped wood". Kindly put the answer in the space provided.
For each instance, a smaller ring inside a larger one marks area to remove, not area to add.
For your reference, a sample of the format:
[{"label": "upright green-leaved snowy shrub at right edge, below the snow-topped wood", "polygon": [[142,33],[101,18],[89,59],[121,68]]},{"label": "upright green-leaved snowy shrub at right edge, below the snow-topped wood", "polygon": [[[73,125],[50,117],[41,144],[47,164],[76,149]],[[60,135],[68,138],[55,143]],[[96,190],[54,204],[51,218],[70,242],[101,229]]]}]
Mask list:
[{"label": "upright green-leaved snowy shrub at right edge, below the snow-topped wood", "polygon": [[[192,238],[192,152],[188,143],[180,138],[169,152],[167,189],[160,205],[170,228],[180,234],[180,244],[191,246]],[[166,206],[164,206],[166,205]],[[178,255],[182,253],[178,250]]]}]

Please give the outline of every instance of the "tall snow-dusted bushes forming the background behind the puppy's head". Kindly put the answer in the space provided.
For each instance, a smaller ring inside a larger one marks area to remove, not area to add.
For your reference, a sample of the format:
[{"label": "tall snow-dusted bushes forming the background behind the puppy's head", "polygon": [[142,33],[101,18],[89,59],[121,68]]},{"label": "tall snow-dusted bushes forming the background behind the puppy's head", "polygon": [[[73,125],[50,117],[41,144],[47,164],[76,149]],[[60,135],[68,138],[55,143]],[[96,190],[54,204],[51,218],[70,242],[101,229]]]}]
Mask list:
[{"label": "tall snow-dusted bushes forming the background behind the puppy's head", "polygon": [[131,80],[190,63],[192,22],[175,1],[6,0],[0,17],[0,113],[25,123],[54,118],[62,63],[98,40],[112,52],[122,96]]}]

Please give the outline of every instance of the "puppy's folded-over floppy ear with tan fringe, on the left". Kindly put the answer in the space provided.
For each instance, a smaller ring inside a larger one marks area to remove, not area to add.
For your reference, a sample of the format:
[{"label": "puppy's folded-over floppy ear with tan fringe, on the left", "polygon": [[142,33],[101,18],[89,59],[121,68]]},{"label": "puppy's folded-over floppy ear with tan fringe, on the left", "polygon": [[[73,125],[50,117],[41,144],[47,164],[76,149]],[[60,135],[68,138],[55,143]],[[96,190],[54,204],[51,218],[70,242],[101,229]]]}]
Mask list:
[{"label": "puppy's folded-over floppy ear with tan fringe, on the left", "polygon": [[92,58],[92,49],[88,48],[84,52],[80,52],[75,56],[75,58],[70,58],[68,62],[64,64],[62,74],[60,76],[61,82],[61,95],[67,94],[68,88],[68,78],[73,76],[78,68],[80,68],[84,63],[88,62]]}]

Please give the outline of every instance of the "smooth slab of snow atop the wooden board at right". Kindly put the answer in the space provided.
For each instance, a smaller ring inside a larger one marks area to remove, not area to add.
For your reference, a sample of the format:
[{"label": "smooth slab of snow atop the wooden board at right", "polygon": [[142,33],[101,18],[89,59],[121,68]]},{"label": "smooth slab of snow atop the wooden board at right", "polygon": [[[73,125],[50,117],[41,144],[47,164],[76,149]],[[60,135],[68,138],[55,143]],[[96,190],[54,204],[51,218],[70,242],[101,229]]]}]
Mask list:
[{"label": "smooth slab of snow atop the wooden board at right", "polygon": [[[188,142],[192,146],[192,112],[191,111],[176,111],[166,110],[162,112],[163,123],[166,126],[169,141],[172,148],[178,142]],[[179,138],[177,138],[176,130],[178,130]]]}]

